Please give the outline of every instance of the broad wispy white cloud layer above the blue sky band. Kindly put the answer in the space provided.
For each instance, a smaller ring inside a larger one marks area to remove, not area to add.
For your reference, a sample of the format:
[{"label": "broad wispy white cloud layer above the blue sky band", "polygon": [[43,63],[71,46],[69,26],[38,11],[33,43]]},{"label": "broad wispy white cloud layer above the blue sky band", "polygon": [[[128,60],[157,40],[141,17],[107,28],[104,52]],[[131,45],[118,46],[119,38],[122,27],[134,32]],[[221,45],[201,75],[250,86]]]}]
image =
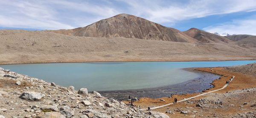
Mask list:
[{"label": "broad wispy white cloud layer above the blue sky band", "polygon": [[120,13],[171,26],[180,20],[255,10],[256,0],[0,0],[0,27],[71,29]]}]

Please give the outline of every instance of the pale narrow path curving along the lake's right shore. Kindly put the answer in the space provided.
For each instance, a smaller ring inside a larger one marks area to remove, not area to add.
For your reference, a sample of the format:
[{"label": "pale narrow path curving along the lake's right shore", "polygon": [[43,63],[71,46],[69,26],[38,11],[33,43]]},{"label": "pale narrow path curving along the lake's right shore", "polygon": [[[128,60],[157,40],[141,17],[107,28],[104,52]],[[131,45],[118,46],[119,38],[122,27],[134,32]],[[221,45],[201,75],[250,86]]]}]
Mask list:
[{"label": "pale narrow path curving along the lake's right shore", "polygon": [[[218,72],[218,71],[215,71],[215,72]],[[222,72],[218,72],[218,73],[222,73]],[[222,73],[224,75],[229,75],[229,74],[225,74],[225,73]],[[230,76],[233,76],[233,75],[230,75]],[[231,79],[231,81],[233,81],[233,79],[235,78],[235,76],[233,76],[233,78]],[[230,81],[230,82],[231,82]],[[183,100],[180,100],[180,101],[177,101],[178,102],[183,102],[183,101],[187,101],[187,100],[190,100],[190,99],[193,99],[193,98],[197,98],[199,96],[202,96],[202,95],[206,95],[208,93],[212,93],[212,92],[216,92],[216,91],[219,91],[219,90],[222,90],[222,89],[225,89],[229,84],[225,84],[221,89],[216,89],[216,90],[213,90],[213,91],[209,91],[209,92],[204,92],[202,94],[199,94],[199,95],[196,95],[196,96],[193,96],[193,97],[190,97],[190,98],[186,98],[186,99],[183,99]],[[169,103],[169,104],[164,104],[164,105],[161,105],[161,106],[156,106],[156,107],[152,107],[150,109],[158,109],[158,108],[162,108],[162,107],[165,107],[165,106],[169,106],[171,104],[174,104],[174,103]],[[148,109],[140,109],[140,110],[148,110]]]}]

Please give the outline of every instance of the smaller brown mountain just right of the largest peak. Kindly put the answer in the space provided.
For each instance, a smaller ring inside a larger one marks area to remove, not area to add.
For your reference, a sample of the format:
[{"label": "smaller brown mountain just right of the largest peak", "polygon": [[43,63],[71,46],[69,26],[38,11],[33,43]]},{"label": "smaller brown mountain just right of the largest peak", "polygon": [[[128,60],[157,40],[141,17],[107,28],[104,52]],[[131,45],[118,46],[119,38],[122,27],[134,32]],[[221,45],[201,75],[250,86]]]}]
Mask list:
[{"label": "smaller brown mountain just right of the largest peak", "polygon": [[191,28],[184,32],[186,35],[189,35],[192,38],[197,39],[198,41],[202,43],[229,43],[233,42],[232,40],[222,37],[219,35],[215,35],[209,32],[205,32],[200,29]]}]

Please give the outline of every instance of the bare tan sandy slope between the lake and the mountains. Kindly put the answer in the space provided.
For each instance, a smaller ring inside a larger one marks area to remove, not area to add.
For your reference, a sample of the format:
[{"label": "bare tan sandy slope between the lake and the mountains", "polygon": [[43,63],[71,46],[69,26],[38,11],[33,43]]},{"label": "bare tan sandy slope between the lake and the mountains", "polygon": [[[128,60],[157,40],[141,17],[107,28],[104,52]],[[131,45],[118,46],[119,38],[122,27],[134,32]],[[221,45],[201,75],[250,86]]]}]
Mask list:
[{"label": "bare tan sandy slope between the lake and the mountains", "polygon": [[0,64],[88,61],[251,60],[256,48],[0,30]]}]

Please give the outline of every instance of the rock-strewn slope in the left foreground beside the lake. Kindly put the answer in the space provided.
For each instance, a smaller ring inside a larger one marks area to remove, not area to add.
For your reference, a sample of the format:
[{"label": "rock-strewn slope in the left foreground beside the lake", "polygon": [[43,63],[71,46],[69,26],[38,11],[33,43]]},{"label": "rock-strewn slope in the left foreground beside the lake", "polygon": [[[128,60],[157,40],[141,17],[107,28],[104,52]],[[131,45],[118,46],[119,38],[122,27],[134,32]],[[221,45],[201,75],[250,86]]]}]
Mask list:
[{"label": "rock-strewn slope in the left foreground beside the lake", "polygon": [[0,68],[0,118],[169,118]]}]

